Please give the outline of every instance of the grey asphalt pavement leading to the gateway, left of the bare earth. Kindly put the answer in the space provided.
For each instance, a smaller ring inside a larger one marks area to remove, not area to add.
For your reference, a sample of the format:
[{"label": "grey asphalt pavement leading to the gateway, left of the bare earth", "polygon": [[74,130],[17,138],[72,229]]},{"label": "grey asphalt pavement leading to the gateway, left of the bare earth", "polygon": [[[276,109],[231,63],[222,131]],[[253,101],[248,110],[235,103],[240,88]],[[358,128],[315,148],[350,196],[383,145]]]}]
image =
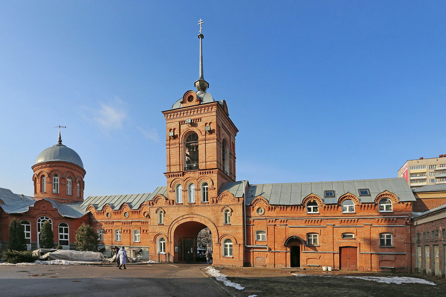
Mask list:
[{"label": "grey asphalt pavement leading to the gateway, left of the bare earth", "polygon": [[0,266],[2,297],[227,296],[200,272],[203,264]]}]

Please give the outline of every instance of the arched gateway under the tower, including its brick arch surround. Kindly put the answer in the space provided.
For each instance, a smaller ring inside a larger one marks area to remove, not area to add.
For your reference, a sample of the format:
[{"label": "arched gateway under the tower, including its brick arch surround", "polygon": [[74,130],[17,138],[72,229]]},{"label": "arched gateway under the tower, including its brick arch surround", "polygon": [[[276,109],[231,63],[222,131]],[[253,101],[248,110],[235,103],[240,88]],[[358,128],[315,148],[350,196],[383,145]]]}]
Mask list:
[{"label": "arched gateway under the tower, including its brick arch surround", "polygon": [[218,230],[203,216],[187,215],[170,225],[169,238],[174,262],[197,262],[204,260],[206,249],[212,250],[212,240],[218,240]]}]

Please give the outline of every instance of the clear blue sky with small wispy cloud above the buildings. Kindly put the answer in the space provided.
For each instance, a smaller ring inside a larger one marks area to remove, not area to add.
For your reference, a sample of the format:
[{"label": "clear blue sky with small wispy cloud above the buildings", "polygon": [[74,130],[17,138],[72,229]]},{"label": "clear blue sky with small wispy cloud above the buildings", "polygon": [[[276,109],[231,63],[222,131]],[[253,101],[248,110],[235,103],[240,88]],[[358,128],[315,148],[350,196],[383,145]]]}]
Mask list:
[{"label": "clear blue sky with small wispy cloud above the buildings", "polygon": [[161,113],[204,77],[240,130],[237,179],[396,177],[446,153],[445,1],[3,1],[0,187],[81,156],[85,197],[166,185]]}]

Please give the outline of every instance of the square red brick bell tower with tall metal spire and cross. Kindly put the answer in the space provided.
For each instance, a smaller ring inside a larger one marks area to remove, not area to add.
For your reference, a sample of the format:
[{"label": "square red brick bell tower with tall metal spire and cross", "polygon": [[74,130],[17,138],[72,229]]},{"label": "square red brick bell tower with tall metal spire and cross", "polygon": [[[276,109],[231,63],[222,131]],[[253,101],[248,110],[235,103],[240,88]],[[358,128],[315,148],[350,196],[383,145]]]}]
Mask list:
[{"label": "square red brick bell tower with tall metal spire and cross", "polygon": [[[223,183],[235,181],[235,136],[226,102],[207,93],[203,75],[203,21],[200,19],[200,66],[197,91],[187,91],[166,119],[167,196],[176,203],[207,203]],[[191,187],[194,188],[193,192]],[[191,194],[192,193],[192,194]],[[193,197],[191,197],[193,196]]]}]

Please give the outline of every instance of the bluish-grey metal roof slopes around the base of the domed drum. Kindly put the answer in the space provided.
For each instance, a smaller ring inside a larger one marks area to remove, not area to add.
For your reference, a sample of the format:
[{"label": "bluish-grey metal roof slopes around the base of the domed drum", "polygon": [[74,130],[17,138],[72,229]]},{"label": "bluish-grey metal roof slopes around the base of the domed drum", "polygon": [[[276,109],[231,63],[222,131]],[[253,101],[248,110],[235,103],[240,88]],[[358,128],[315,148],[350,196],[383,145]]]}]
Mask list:
[{"label": "bluish-grey metal roof slopes around the base of the domed drum", "polygon": [[[0,203],[0,207],[6,213],[23,213],[34,206],[36,199],[29,196],[23,196],[23,198],[11,192],[11,190],[0,188],[0,200],[4,203]],[[45,199],[51,202],[53,207],[57,209],[57,212],[63,217],[80,218],[87,212],[80,208],[80,203],[59,204],[56,200]]]}]

